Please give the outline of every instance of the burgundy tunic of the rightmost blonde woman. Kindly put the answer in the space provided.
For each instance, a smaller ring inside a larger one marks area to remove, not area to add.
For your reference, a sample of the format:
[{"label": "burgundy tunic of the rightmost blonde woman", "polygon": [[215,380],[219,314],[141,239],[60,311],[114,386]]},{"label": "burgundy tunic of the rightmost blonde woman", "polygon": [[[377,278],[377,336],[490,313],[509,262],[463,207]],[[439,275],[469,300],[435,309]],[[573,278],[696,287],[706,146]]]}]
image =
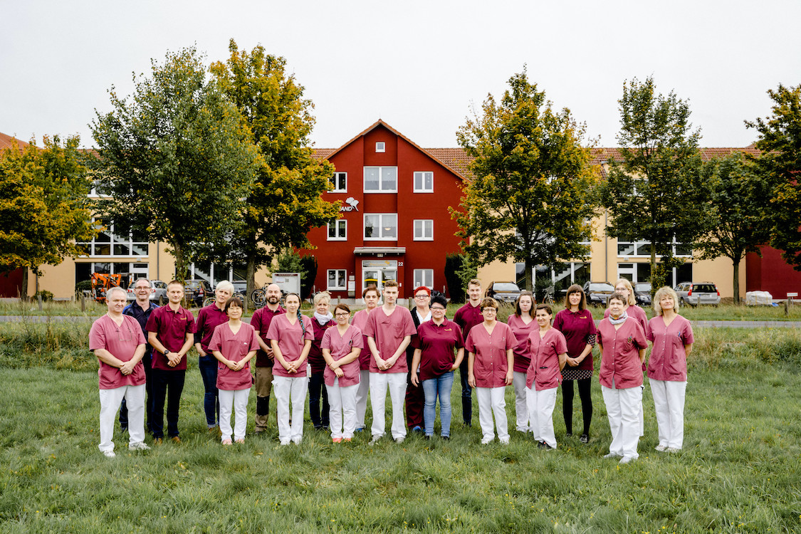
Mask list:
[{"label": "burgundy tunic of the rightmost blonde woman", "polygon": [[648,361],[648,378],[686,382],[687,354],[684,346],[694,343],[690,321],[676,315],[669,325],[665,325],[664,317],[658,315],[650,320],[648,339],[654,343]]}]

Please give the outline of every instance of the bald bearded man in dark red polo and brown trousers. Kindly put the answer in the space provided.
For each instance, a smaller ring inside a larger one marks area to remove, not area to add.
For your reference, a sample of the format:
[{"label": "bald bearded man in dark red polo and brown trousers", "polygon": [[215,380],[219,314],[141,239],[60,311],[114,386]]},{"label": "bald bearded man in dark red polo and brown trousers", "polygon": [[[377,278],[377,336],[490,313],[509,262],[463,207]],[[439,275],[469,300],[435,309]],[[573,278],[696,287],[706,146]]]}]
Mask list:
[{"label": "bald bearded man in dark red polo and brown trousers", "polygon": [[270,392],[272,391],[272,365],[275,356],[267,337],[272,318],[286,313],[281,302],[281,288],[271,283],[267,287],[267,305],[253,312],[251,326],[256,330],[259,338],[259,351],[256,352],[256,434],[267,430],[267,420],[270,415]]}]

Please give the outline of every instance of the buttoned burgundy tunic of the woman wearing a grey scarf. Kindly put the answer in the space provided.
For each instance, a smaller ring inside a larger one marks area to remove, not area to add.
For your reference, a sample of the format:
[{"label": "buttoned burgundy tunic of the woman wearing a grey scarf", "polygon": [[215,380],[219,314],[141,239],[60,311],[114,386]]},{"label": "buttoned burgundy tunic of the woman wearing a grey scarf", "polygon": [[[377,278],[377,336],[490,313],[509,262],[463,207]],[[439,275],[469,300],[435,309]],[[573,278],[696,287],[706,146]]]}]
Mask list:
[{"label": "buttoned burgundy tunic of the woman wearing a grey scarf", "polygon": [[602,386],[613,387],[613,379],[615,389],[642,386],[639,350],[648,347],[648,341],[637,319],[627,318],[618,330],[603,319],[598,324],[598,343],[603,347],[598,373]]}]

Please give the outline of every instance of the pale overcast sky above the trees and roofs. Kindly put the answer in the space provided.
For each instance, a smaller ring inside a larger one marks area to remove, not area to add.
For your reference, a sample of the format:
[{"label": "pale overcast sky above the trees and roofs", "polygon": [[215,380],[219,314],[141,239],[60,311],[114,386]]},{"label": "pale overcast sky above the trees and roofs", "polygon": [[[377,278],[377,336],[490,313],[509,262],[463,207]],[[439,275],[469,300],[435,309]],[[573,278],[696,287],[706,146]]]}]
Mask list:
[{"label": "pale overcast sky above the trees and roofs", "polygon": [[512,74],[617,145],[623,82],[654,76],[690,101],[702,146],[755,141],[743,120],[770,113],[767,90],[801,83],[801,2],[3,2],[0,132],[78,134],[93,146],[107,91],[167,50],[207,62],[261,44],[284,56],[315,104],[315,147],[340,147],[383,118],[422,147],[455,132]]}]

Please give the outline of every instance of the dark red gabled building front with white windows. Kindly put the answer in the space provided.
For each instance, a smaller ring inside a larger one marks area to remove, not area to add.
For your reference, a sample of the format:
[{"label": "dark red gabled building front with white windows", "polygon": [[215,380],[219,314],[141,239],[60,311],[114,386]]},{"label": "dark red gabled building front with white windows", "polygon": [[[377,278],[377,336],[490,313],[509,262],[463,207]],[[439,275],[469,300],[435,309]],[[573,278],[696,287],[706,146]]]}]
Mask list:
[{"label": "dark red gabled building front with white windows", "polygon": [[460,251],[449,207],[459,204],[464,176],[445,152],[418,147],[378,121],[316,153],[336,167],[324,198],[342,202],[340,219],[309,232],[316,249],[301,251],[316,256],[316,289],[360,298],[369,284],[392,279],[401,298],[418,286],[447,292],[445,256]]}]

